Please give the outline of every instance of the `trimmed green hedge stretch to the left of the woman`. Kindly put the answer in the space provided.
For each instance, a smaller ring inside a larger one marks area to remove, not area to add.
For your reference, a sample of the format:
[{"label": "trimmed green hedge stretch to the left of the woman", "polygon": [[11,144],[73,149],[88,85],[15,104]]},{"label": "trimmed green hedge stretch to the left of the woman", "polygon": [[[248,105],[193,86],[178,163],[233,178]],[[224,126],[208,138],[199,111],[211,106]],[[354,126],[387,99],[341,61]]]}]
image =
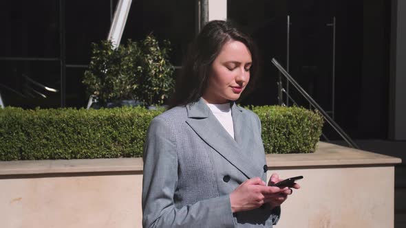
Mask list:
[{"label": "trimmed green hedge stretch to the left of the woman", "polygon": [[149,122],[162,111],[0,110],[0,160],[141,157]]}]

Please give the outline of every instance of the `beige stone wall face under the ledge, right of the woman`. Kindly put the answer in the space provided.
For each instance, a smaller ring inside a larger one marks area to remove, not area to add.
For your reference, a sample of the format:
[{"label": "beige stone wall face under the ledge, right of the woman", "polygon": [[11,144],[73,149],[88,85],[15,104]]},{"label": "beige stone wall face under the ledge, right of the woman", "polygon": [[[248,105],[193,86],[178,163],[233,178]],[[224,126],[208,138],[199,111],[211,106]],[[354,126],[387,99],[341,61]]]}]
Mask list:
[{"label": "beige stone wall face under the ledge, right of the woman", "polygon": [[394,167],[275,172],[304,176],[301,190],[284,203],[277,228],[394,227]]}]

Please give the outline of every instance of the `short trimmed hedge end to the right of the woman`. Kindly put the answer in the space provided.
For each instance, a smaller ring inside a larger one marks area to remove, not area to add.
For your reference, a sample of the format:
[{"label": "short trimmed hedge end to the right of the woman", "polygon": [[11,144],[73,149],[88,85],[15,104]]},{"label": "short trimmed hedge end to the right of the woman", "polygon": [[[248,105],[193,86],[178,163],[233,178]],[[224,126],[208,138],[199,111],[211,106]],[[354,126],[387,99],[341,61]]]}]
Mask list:
[{"label": "short trimmed hedge end to the right of the woman", "polygon": [[323,128],[318,112],[297,106],[251,107],[261,119],[262,141],[267,153],[309,153],[316,149]]}]

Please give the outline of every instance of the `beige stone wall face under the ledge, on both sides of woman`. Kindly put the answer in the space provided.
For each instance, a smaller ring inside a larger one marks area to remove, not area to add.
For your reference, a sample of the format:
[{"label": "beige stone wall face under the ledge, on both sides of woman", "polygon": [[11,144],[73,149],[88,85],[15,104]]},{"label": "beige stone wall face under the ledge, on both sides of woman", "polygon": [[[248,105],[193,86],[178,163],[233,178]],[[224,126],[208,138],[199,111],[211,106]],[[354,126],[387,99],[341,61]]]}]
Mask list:
[{"label": "beige stone wall face under the ledge, on both sides of woman", "polygon": [[[270,170],[303,175],[277,228],[394,223],[394,168]],[[1,227],[141,227],[141,174],[0,179]]]}]

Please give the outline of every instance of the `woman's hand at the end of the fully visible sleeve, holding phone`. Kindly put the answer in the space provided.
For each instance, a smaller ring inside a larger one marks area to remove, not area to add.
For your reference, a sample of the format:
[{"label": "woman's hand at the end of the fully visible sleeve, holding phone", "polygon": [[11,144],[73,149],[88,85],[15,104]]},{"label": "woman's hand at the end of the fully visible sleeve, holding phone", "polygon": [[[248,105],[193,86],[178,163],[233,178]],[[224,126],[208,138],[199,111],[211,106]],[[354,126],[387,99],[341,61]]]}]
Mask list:
[{"label": "woman's hand at the end of the fully visible sleeve, holding phone", "polygon": [[261,207],[261,205],[266,203],[264,195],[279,194],[279,192],[284,190],[288,190],[288,187],[267,186],[259,177],[248,179],[231,192],[231,211],[235,213]]}]

